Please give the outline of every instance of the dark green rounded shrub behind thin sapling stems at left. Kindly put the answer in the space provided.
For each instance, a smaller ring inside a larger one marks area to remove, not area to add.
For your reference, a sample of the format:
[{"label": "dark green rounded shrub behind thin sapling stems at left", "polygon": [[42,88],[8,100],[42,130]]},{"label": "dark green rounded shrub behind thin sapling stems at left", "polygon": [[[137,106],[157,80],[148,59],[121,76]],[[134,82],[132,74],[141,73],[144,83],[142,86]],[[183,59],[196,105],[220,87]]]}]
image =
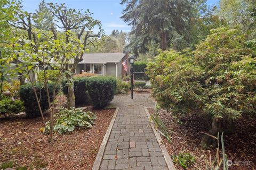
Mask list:
[{"label": "dark green rounded shrub behind thin sapling stems at left", "polygon": [[[49,83],[47,85],[51,99],[53,95],[53,86],[54,86],[53,83]],[[47,109],[49,109],[46,90],[44,87],[40,86],[39,84],[36,85],[35,88],[36,88],[38,98],[40,99],[40,105],[41,105],[42,111],[44,112]],[[58,91],[59,91],[59,86],[57,86],[56,88],[56,93]],[[19,95],[20,95],[20,99],[23,101],[23,104],[25,106],[26,117],[33,118],[33,117],[40,116],[35,93],[31,84],[27,83],[21,86],[19,90]]]}]

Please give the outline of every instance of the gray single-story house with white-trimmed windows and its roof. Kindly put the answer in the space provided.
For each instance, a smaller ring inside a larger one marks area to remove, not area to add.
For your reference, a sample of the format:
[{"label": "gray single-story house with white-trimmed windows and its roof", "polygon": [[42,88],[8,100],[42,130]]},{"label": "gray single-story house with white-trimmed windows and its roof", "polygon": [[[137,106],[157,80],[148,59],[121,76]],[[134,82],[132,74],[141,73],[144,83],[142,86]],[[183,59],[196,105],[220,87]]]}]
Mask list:
[{"label": "gray single-story house with white-trimmed windows and its roof", "polygon": [[122,63],[125,61],[128,67],[129,62],[127,59],[127,53],[84,54],[83,61],[79,62],[75,74],[86,72],[100,76],[121,77],[126,73]]}]

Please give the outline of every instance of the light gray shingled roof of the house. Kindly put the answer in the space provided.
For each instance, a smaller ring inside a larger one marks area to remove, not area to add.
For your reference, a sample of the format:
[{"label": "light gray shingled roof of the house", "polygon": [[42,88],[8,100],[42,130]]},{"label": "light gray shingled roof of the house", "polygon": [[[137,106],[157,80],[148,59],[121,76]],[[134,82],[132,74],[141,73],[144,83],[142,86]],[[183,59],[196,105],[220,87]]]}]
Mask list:
[{"label": "light gray shingled roof of the house", "polygon": [[79,63],[119,63],[125,53],[87,53],[83,55],[84,61]]}]

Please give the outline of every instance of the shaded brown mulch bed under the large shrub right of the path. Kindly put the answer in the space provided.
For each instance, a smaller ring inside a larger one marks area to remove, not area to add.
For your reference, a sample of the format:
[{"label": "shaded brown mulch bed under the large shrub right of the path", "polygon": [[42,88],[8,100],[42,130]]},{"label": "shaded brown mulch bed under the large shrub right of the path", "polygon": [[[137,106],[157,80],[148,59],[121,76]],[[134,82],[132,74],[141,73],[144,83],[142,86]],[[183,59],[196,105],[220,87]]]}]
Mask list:
[{"label": "shaded brown mulch bed under the large shrub right of the path", "polygon": [[[149,108],[149,112],[153,114],[155,109]],[[157,113],[166,129],[170,130],[171,143],[168,143],[164,137],[162,139],[171,157],[173,154],[178,155],[180,152],[189,152],[194,155],[197,162],[188,169],[206,169],[205,159],[210,162],[209,151],[200,147],[203,134],[198,134],[198,132],[207,132],[210,128],[209,120],[195,114],[188,114],[178,119],[173,117],[171,112],[162,109]],[[256,169],[256,118],[244,115],[241,120],[235,123],[234,133],[224,135],[228,160],[233,161],[233,165],[229,166],[229,169]],[[216,149],[211,147],[209,150],[213,162]],[[222,159],[222,154],[220,158]],[[174,165],[177,169],[183,169],[180,165]]]}]

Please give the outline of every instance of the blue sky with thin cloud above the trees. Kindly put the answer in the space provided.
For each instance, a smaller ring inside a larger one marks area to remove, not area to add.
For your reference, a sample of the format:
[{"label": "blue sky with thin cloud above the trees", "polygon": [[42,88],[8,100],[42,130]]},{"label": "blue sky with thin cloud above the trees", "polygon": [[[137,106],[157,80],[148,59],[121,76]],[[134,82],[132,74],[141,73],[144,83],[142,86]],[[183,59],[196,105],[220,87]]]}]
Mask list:
[{"label": "blue sky with thin cloud above the trees", "polygon": [[[207,0],[207,4],[218,4],[218,1]],[[22,0],[23,9],[27,12],[35,12],[40,2],[41,0]],[[89,9],[93,13],[93,18],[101,21],[106,35],[109,35],[114,29],[125,32],[131,30],[131,27],[120,19],[125,8],[125,5],[120,4],[121,0],[45,0],[45,2],[65,3],[70,8]]]}]

